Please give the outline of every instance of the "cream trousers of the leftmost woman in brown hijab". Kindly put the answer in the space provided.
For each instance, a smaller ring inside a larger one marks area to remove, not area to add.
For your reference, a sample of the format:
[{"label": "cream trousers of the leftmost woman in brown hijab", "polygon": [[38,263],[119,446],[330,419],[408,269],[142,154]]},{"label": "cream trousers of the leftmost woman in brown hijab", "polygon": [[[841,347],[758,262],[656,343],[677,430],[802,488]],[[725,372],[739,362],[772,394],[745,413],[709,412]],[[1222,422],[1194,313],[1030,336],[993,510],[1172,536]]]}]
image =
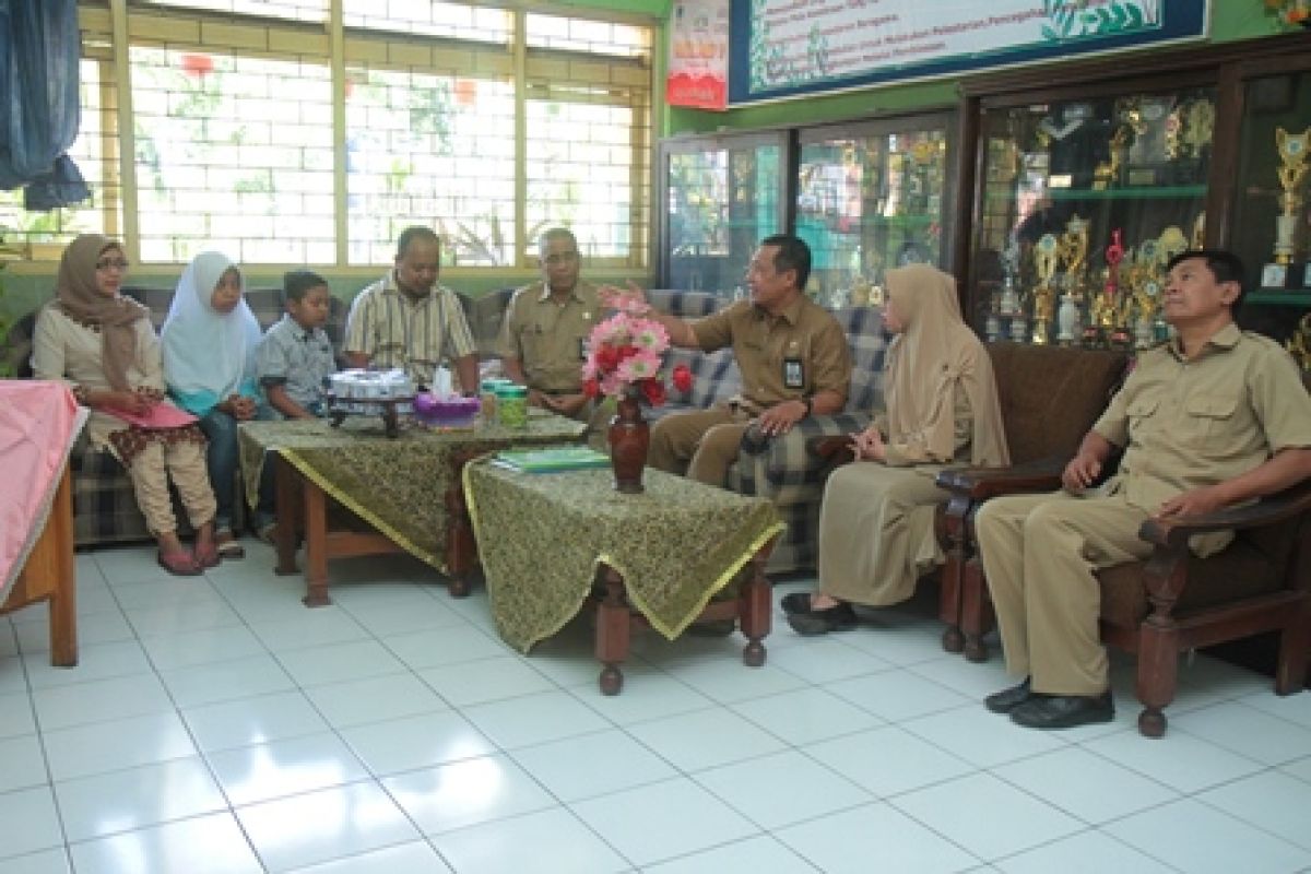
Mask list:
[{"label": "cream trousers of the leftmost woman in brown hijab", "polygon": [[127,474],[132,480],[136,504],[146,516],[146,524],[156,536],[177,531],[173,499],[168,491],[170,476],[191,527],[199,528],[214,522],[218,503],[210,487],[203,446],[184,440],[168,444],[152,440],[132,459]]}]

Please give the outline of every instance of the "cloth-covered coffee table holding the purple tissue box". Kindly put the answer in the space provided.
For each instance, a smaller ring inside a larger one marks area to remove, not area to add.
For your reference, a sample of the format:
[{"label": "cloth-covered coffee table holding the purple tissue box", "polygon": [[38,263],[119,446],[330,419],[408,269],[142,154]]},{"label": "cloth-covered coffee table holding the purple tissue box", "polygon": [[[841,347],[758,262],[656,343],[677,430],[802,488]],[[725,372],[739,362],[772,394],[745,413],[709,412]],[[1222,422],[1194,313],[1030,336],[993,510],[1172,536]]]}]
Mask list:
[{"label": "cloth-covered coffee table holding the purple tissue box", "polygon": [[[585,425],[535,410],[526,430],[401,427],[395,438],[376,417],[243,422],[239,428],[246,495],[258,494],[266,455],[277,459],[278,563],[295,574],[296,544],[305,544],[307,607],[332,603],[328,560],[406,552],[448,573],[446,495],[455,459],[511,446],[581,440]],[[336,519],[329,504],[349,514]],[[346,524],[337,524],[346,522]],[[452,594],[459,584],[452,579]]]}]

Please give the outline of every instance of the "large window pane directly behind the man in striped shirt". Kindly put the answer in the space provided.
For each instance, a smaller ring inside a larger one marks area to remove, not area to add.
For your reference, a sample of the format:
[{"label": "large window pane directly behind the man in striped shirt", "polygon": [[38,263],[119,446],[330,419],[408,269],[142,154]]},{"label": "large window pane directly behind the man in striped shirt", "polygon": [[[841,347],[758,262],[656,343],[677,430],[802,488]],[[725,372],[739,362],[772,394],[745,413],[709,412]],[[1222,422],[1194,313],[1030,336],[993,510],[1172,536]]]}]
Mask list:
[{"label": "large window pane directly behind the man in striped shirt", "polygon": [[433,227],[447,263],[514,263],[514,88],[347,67],[350,263],[391,263],[409,224]]}]

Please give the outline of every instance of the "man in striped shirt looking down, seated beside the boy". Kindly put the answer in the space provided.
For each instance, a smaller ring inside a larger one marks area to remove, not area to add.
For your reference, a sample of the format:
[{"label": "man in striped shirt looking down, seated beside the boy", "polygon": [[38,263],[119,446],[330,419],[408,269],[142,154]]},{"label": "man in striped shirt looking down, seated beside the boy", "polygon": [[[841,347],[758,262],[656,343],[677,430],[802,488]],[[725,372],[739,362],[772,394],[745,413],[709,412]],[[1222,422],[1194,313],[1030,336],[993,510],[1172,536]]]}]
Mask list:
[{"label": "man in striped shirt looking down, seated beside the boy", "polygon": [[355,296],[346,320],[351,367],[401,368],[431,388],[443,359],[455,364],[456,389],[479,388],[479,358],[455,292],[437,284],[442,240],[430,228],[405,228],[396,267]]}]

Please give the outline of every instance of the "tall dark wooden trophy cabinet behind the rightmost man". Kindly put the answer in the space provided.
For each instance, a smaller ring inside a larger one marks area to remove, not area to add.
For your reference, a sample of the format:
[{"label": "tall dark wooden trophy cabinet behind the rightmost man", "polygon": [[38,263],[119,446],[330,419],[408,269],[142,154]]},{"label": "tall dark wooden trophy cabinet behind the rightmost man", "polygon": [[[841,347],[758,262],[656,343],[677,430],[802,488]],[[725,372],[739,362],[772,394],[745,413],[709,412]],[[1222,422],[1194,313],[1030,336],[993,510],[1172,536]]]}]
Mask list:
[{"label": "tall dark wooden trophy cabinet behind the rightmost man", "polygon": [[1154,345],[1169,330],[1165,262],[1210,245],[1247,266],[1240,324],[1311,367],[1311,34],[1011,71],[962,92],[953,262],[981,335]]}]

